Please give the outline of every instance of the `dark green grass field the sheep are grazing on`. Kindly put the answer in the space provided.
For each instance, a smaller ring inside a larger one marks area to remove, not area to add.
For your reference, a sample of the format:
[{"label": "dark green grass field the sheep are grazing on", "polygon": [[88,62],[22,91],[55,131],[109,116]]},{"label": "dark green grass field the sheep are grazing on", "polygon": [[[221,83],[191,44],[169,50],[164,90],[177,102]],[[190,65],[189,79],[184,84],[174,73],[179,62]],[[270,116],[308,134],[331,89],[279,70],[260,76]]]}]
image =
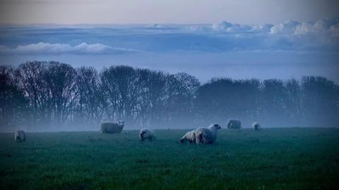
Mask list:
[{"label": "dark green grass field the sheep are grazing on", "polygon": [[222,129],[216,144],[187,130],[0,134],[0,189],[335,189],[339,129]]}]

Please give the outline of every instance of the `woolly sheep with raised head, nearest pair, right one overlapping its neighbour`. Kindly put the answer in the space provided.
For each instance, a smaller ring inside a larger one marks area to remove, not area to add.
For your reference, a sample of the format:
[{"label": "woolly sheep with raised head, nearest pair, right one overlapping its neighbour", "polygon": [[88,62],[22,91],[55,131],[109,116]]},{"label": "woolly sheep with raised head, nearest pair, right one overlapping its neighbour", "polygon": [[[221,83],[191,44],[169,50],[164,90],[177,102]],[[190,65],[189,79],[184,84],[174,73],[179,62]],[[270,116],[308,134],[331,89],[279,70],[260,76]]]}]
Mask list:
[{"label": "woolly sheep with raised head, nearest pair, right one overlapping its neighbour", "polygon": [[196,129],[196,144],[213,144],[217,139],[218,124],[211,124],[208,128],[198,127]]}]

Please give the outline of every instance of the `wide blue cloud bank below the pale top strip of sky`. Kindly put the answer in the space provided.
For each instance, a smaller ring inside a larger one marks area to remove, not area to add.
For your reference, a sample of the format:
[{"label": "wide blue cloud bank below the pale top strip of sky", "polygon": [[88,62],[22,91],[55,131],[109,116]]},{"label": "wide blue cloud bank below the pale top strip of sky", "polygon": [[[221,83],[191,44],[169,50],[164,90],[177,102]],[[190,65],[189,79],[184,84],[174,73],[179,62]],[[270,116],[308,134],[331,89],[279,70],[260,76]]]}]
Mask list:
[{"label": "wide blue cloud bank below the pale top strip of sky", "polygon": [[339,18],[239,25],[54,25],[0,27],[0,53],[112,54],[339,50]]}]

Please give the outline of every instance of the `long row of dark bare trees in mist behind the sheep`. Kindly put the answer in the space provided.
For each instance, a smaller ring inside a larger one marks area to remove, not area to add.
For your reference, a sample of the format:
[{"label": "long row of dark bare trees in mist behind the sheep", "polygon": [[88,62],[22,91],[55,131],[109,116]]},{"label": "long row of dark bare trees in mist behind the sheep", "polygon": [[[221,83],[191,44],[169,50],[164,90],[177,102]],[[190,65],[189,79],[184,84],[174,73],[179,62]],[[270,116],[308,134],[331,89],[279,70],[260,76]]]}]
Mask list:
[{"label": "long row of dark bare trees in mist behind the sheep", "polygon": [[56,61],[0,66],[0,127],[11,130],[97,129],[125,120],[127,128],[194,128],[228,118],[244,127],[339,124],[339,86],[320,76],[300,80],[213,78],[185,72],[112,65],[98,71]]}]

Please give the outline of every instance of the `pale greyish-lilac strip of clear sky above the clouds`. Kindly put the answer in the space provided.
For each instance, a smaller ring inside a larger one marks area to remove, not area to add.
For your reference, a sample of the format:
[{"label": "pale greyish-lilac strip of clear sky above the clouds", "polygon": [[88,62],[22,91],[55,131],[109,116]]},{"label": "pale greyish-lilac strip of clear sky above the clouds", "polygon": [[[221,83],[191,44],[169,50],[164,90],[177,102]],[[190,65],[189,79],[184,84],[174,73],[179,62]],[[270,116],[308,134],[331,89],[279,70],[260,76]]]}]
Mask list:
[{"label": "pale greyish-lilac strip of clear sky above the clouds", "polygon": [[338,17],[333,0],[0,0],[0,23],[300,22]]}]

